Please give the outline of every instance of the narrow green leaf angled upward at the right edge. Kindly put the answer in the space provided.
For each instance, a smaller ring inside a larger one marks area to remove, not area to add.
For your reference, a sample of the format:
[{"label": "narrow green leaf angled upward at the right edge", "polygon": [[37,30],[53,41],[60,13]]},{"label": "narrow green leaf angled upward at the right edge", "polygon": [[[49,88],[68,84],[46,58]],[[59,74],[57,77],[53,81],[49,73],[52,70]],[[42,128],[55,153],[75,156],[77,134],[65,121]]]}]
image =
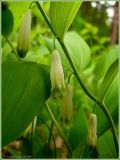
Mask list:
[{"label": "narrow green leaf angled upward at the right edge", "polygon": [[117,59],[111,64],[111,66],[108,68],[108,70],[104,76],[104,79],[103,79],[101,87],[100,87],[100,92],[99,92],[99,96],[100,96],[101,101],[104,100],[105,95],[106,95],[111,83],[113,82],[115,76],[118,73],[118,65],[119,65],[119,61]]}]

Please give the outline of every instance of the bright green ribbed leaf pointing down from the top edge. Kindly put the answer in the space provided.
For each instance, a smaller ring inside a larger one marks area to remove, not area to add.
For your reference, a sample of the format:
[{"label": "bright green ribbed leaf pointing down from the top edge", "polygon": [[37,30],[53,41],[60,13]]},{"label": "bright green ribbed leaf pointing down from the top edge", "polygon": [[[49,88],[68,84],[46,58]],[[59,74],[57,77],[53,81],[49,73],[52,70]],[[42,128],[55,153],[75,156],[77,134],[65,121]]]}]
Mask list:
[{"label": "bright green ribbed leaf pointing down from the top edge", "polygon": [[51,2],[50,20],[56,35],[63,37],[68,30],[83,0],[80,2]]}]

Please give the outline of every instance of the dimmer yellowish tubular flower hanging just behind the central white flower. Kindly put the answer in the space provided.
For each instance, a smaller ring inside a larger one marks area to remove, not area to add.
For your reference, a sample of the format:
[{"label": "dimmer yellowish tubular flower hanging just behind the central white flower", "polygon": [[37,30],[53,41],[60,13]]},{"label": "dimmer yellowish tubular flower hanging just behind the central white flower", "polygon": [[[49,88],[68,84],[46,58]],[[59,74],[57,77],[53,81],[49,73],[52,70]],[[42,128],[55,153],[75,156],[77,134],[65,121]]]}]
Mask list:
[{"label": "dimmer yellowish tubular flower hanging just behind the central white flower", "polygon": [[73,101],[72,101],[72,86],[67,85],[67,94],[62,98],[61,108],[60,108],[60,118],[63,124],[66,126],[71,125],[73,120]]}]

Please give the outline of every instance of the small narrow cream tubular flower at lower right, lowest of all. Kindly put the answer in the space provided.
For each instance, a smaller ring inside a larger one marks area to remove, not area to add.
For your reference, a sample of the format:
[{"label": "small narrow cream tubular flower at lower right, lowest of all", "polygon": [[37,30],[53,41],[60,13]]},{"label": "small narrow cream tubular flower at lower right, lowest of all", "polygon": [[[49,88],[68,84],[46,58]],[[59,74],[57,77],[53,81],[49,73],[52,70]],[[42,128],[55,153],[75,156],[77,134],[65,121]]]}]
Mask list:
[{"label": "small narrow cream tubular flower at lower right, lowest of all", "polygon": [[97,141],[97,117],[95,114],[90,114],[88,127],[88,145],[95,147]]}]

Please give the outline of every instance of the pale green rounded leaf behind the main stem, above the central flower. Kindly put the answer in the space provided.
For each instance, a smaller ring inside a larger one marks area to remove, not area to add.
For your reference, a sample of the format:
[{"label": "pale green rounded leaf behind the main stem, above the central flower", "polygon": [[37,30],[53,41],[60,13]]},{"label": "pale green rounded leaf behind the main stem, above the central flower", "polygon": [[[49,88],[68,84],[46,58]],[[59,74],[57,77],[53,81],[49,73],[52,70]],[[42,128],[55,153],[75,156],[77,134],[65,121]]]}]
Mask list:
[{"label": "pale green rounded leaf behind the main stem, above the central flower", "polygon": [[[53,40],[47,38],[44,38],[44,40],[48,49],[50,50],[50,52],[52,52],[54,49]],[[90,61],[90,48],[82,39],[82,37],[76,32],[67,32],[65,34],[64,41],[76,68],[78,69],[78,71],[82,71]],[[72,68],[58,41],[55,41],[55,46],[60,53],[64,67],[67,70],[72,71]]]}]

